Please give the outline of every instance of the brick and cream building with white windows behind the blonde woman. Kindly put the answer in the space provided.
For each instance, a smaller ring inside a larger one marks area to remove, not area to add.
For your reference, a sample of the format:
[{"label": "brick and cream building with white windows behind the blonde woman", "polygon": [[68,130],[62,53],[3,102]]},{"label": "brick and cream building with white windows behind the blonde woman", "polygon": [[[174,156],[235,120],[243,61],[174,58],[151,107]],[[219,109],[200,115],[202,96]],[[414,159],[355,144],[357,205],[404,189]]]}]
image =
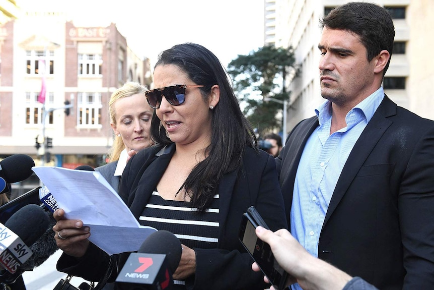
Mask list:
[{"label": "brick and cream building with white windows behind the blonde woman", "polygon": [[[64,12],[20,12],[0,23],[0,158],[23,153],[36,165],[104,164],[113,141],[110,95],[127,81],[150,86],[149,60],[128,47],[114,23],[78,27]],[[38,102],[43,80],[45,104]],[[73,105],[68,115],[65,101]],[[45,149],[47,140],[52,147]]]}]

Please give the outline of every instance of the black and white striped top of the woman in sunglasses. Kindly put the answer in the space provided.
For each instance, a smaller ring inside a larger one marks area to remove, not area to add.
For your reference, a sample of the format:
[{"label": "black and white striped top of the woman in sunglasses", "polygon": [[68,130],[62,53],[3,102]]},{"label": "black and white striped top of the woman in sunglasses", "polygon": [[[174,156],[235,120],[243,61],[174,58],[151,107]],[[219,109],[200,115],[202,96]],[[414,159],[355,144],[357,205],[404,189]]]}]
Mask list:
[{"label": "black and white striped top of the woman in sunglasses", "polygon": [[[199,212],[191,207],[191,202],[165,200],[154,191],[139,223],[168,230],[189,248],[216,248],[219,242],[219,195],[214,195],[208,209]],[[175,280],[174,283],[183,284],[183,281]],[[183,288],[185,286],[176,287]]]}]

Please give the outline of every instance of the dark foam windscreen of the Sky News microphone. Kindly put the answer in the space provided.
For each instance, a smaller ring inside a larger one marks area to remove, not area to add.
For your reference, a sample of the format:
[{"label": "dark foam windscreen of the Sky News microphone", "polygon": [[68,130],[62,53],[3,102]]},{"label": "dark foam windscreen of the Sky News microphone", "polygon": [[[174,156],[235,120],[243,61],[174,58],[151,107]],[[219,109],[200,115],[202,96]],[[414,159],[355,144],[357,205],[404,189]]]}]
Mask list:
[{"label": "dark foam windscreen of the Sky News microphone", "polygon": [[49,223],[47,214],[39,205],[28,204],[17,210],[5,226],[30,247],[45,233]]}]

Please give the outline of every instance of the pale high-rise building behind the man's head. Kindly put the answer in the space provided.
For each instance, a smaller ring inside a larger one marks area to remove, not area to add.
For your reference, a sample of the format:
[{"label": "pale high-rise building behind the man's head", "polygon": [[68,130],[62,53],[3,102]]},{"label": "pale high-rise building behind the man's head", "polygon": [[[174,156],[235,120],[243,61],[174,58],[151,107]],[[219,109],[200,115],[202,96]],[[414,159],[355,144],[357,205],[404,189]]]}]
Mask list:
[{"label": "pale high-rise building behind the man's head", "polygon": [[[295,48],[301,75],[288,80],[292,91],[287,110],[287,130],[312,117],[324,99],[320,95],[318,64],[321,37],[319,19],[342,0],[264,0],[264,44]],[[398,105],[434,120],[434,60],[426,50],[434,44],[428,27],[434,25],[432,0],[369,1],[389,10],[395,25],[395,46],[385,75],[385,93]]]}]

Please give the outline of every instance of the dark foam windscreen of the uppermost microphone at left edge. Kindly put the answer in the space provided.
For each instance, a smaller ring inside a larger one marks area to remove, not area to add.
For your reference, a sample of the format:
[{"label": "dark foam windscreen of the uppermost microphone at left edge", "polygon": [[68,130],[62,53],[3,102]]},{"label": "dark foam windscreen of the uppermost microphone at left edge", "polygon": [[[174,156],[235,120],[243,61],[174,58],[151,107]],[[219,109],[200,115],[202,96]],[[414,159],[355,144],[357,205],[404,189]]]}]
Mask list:
[{"label": "dark foam windscreen of the uppermost microphone at left edge", "polygon": [[26,154],[14,154],[0,161],[3,175],[8,183],[16,183],[28,179],[35,166],[32,157]]}]

